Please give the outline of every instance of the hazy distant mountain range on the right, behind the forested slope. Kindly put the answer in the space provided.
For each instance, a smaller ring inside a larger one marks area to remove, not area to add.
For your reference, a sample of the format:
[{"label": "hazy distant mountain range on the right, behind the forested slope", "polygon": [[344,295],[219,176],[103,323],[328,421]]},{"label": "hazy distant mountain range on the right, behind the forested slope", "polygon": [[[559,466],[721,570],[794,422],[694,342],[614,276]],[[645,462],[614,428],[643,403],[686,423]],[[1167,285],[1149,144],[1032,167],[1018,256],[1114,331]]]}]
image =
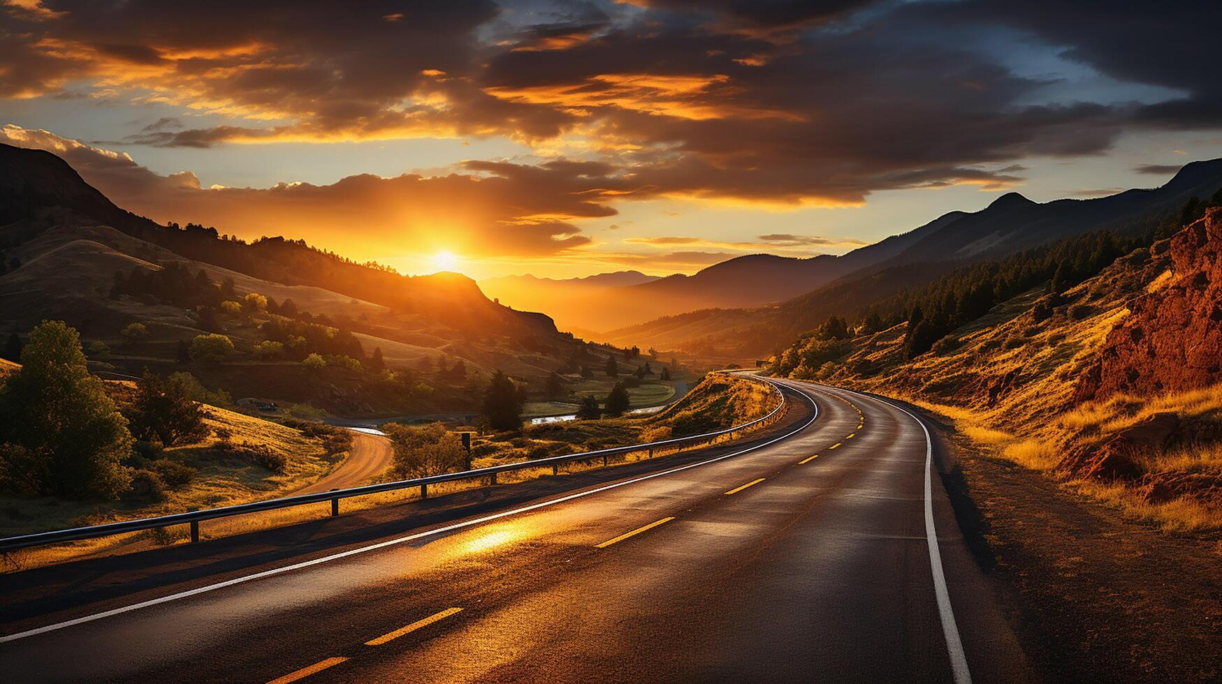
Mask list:
[{"label": "hazy distant mountain range on the right, behind the forested slope", "polygon": [[[822,280],[822,283],[776,304],[744,308],[714,303],[703,310],[628,325],[599,338],[617,344],[749,358],[771,349],[777,340],[815,327],[829,315],[859,310],[903,288],[924,285],[960,264],[1014,254],[1085,232],[1110,230],[1135,235],[1178,211],[1189,198],[1207,198],[1220,188],[1222,159],[1191,162],[1158,188],[1130,189],[1097,199],[1036,203],[1008,193],[980,211],[952,211],[843,256],[809,259],[819,269],[810,281]],[[714,269],[717,266],[706,270]],[[739,277],[763,282],[771,278],[769,274],[742,271]]]}]

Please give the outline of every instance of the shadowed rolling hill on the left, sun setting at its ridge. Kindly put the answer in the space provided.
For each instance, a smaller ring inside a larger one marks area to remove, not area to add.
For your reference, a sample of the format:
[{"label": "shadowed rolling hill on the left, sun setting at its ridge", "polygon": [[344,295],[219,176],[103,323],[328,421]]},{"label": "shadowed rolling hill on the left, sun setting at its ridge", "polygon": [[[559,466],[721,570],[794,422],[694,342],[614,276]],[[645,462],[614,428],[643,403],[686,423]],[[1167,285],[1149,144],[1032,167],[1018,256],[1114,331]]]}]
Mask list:
[{"label": "shadowed rolling hill on the left, sun setting at its ridge", "polygon": [[[115,206],[42,150],[0,145],[0,331],[62,319],[93,346],[95,370],[127,376],[187,365],[235,397],[346,414],[469,408],[468,385],[480,375],[502,369],[541,382],[587,349],[550,318],[497,304],[457,274],[407,277],[298,241],[248,244],[214,228],[160,226]],[[266,310],[221,313],[222,296],[247,293],[266,297]],[[130,324],[145,332],[123,335]],[[296,357],[316,349],[358,363],[340,358],[304,373],[287,351],[255,352],[271,331],[288,342],[316,337]],[[181,359],[180,346],[207,332],[229,336],[235,355]],[[371,359],[375,348],[381,360]],[[401,370],[387,380],[380,365]]]}]

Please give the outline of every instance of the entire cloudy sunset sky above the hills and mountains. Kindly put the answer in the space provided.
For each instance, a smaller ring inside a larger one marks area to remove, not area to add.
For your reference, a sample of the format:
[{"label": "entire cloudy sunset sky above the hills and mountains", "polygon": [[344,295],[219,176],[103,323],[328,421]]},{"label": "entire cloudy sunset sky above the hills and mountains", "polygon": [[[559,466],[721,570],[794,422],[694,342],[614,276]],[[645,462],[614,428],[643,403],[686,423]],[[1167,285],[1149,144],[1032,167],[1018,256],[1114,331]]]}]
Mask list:
[{"label": "entire cloudy sunset sky above the hills and mountains", "polygon": [[1222,4],[0,0],[0,142],[475,277],[842,253],[1222,156]]}]

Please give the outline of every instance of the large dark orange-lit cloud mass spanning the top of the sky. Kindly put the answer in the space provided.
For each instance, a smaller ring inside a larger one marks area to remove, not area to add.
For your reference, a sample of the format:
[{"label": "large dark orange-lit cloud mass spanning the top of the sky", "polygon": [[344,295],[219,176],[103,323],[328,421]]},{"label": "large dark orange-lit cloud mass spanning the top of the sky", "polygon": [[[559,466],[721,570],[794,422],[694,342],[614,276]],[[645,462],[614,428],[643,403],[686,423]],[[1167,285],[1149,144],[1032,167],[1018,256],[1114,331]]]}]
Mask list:
[{"label": "large dark orange-lit cloud mass spanning the top of the sky", "polygon": [[[48,1],[7,9],[0,96],[93,77],[232,118],[127,138],[156,147],[507,136],[568,153],[580,140],[571,155],[598,165],[466,166],[472,178],[556,183],[573,216],[606,215],[616,199],[853,205],[884,189],[1000,189],[1022,182],[1029,156],[1222,126],[1222,79],[1204,57],[1218,4],[633,4],[644,9]],[[985,45],[1002,31],[1182,95],[1045,101],[1057,76],[1025,76]]]}]

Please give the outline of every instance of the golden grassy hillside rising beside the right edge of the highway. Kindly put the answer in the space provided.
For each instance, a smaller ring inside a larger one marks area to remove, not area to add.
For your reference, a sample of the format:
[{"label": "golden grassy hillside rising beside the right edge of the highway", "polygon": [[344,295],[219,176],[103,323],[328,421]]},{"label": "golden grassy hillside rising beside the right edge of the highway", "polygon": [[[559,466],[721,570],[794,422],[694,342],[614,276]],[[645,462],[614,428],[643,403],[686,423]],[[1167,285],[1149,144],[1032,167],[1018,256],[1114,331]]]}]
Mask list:
[{"label": "golden grassy hillside rising beside the right edge of the highway", "polygon": [[[1129,303],[1179,277],[1168,246],[1138,249],[1061,297],[1033,288],[912,359],[907,322],[832,343],[805,338],[786,353],[818,363],[788,374],[912,401],[980,448],[1165,529],[1222,528],[1222,387],[1074,401]],[[1095,463],[1118,443],[1133,468]],[[1202,486],[1179,486],[1185,479]]]}]

